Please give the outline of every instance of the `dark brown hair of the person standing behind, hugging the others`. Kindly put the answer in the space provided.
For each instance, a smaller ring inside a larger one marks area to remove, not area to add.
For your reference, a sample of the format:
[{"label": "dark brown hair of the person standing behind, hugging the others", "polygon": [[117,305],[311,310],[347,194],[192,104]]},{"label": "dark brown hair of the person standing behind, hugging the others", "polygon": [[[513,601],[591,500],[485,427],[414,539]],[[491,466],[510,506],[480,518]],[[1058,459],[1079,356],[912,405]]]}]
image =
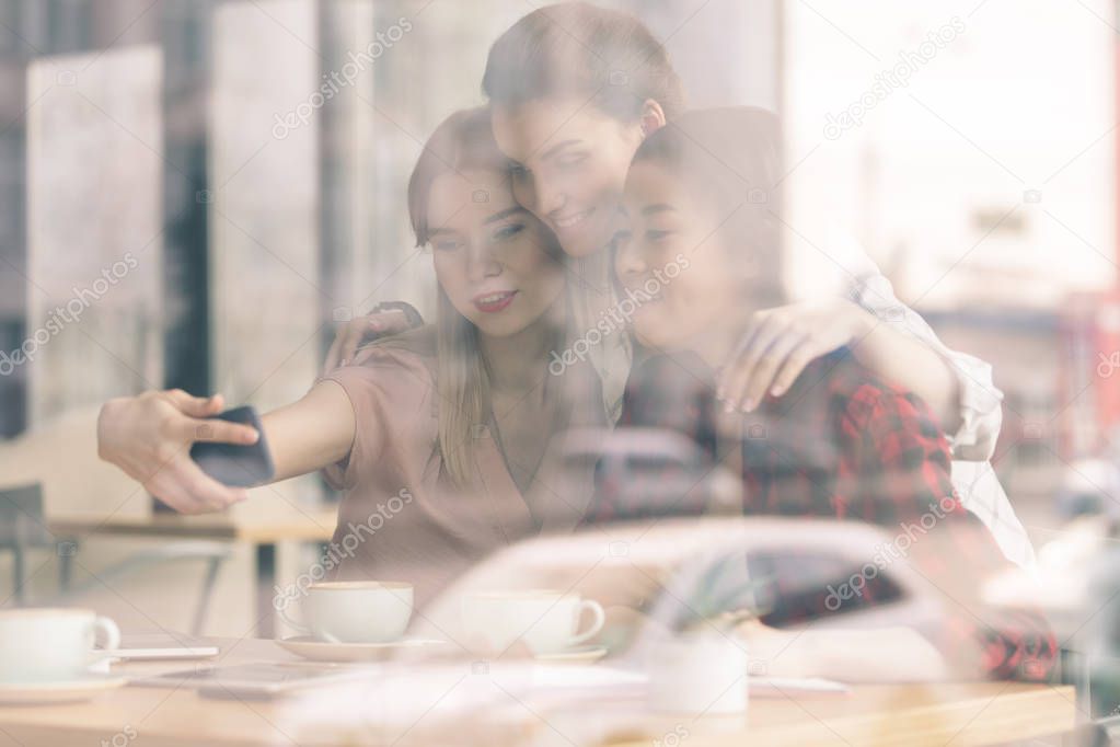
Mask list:
[{"label": "dark brown hair of the person standing behind, hugging the others", "polygon": [[681,80],[650,29],[631,13],[586,2],[545,6],[511,26],[491,47],[483,93],[507,106],[586,97],[625,122],[638,119],[648,99],[666,119],[684,109]]}]

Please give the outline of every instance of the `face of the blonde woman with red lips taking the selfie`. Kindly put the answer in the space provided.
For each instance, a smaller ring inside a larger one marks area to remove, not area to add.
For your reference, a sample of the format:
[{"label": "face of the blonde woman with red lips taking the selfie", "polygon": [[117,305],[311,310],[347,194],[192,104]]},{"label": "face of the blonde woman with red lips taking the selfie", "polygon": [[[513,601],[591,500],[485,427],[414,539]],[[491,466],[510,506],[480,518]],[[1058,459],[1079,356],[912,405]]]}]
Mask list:
[{"label": "face of the blonde woman with red lips taking the selfie", "polygon": [[513,199],[505,175],[438,176],[431,183],[428,225],[439,286],[483,335],[522,332],[560,298],[564,270],[554,240]]}]

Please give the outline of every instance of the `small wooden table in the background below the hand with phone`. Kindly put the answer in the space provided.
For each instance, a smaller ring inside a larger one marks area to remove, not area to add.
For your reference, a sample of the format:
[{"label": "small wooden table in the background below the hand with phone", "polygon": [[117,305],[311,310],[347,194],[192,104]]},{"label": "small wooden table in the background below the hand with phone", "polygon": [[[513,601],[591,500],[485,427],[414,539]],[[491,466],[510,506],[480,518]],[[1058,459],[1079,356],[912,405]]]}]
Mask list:
[{"label": "small wooden table in the background below the hand with phone", "polygon": [[228,514],[155,514],[148,517],[55,517],[49,522],[55,535],[128,535],[178,540],[217,540],[245,542],[253,545],[255,560],[256,634],[263,638],[276,635],[276,613],[272,607],[277,573],[277,543],[329,542],[334,535],[338,510],[335,506],[308,508],[264,516]]}]

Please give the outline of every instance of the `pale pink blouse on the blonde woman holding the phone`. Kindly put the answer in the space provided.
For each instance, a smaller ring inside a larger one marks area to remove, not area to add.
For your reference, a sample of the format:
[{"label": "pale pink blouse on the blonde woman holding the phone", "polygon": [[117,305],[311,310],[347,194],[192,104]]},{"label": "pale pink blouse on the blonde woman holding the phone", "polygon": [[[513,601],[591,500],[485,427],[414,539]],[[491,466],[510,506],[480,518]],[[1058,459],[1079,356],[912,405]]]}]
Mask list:
[{"label": "pale pink blouse on the blonde woman holding the phone", "polygon": [[568,467],[563,430],[599,426],[605,417],[597,405],[601,394],[584,389],[595,381],[590,370],[561,379],[563,395],[578,399],[560,408],[568,422],[554,427],[560,437],[550,442],[526,501],[488,424],[472,429],[472,484],[458,487],[446,474],[438,415],[451,404],[436,389],[431,327],[364,348],[353,364],[323,376],[343,387],[356,420],[349,455],[324,469],[345,491],[327,554],[338,559],[329,578],[409,581],[422,606],[491,552],[575,527],[590,501],[592,475]]}]

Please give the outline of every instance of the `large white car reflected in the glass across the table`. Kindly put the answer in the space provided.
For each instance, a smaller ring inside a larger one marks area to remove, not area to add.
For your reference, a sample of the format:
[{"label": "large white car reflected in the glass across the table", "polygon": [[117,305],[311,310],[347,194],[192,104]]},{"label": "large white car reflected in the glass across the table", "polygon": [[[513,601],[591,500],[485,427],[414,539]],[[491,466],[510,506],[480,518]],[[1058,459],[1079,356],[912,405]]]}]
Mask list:
[{"label": "large white car reflected in the glass across the table", "polygon": [[[461,605],[472,595],[564,590],[606,608],[608,624],[596,643],[629,661],[641,659],[666,631],[744,609],[765,615],[773,604],[774,573],[785,577],[783,600],[819,597],[830,588],[842,595],[890,541],[883,527],[861,522],[778,516],[597,524],[523,540],[493,554],[423,610],[417,635],[461,641]],[[785,572],[791,568],[793,576]],[[905,559],[875,575],[883,595],[877,604],[820,617],[813,627],[905,625],[931,638],[937,634],[944,622],[942,589]]]}]

